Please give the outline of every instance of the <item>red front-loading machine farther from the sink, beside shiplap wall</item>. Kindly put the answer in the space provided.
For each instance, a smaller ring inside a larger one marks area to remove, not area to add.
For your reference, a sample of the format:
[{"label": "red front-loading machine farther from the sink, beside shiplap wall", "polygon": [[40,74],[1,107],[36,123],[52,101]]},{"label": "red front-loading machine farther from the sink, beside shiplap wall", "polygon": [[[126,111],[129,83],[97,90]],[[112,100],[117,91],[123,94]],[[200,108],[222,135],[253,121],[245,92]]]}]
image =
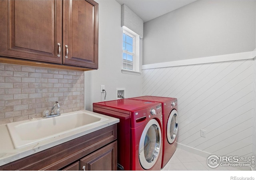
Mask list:
[{"label": "red front-loading machine farther from the sink, beside shiplap wall", "polygon": [[136,98],[129,98],[151,102],[162,103],[163,114],[163,152],[162,152],[162,165],[163,168],[170,160],[177,148],[176,136],[178,133],[178,107],[177,98],[165,98],[157,96],[141,96]]}]

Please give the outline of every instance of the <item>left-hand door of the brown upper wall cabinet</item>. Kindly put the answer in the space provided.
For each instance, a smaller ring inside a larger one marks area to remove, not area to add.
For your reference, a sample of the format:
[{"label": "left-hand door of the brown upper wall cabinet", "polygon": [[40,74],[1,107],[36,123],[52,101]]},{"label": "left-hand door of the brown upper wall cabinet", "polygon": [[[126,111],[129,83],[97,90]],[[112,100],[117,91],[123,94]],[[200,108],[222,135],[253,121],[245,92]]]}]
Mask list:
[{"label": "left-hand door of the brown upper wall cabinet", "polygon": [[61,9],[60,0],[1,0],[0,56],[62,63]]}]

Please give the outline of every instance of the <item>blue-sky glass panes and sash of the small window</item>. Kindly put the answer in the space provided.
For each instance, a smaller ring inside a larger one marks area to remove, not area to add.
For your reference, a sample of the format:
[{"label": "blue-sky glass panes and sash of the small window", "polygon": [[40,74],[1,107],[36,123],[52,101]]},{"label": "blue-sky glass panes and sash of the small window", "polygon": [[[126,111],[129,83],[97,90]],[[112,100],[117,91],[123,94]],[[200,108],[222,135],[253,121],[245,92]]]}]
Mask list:
[{"label": "blue-sky glass panes and sash of the small window", "polygon": [[135,37],[123,32],[123,68],[134,70],[134,39]]}]

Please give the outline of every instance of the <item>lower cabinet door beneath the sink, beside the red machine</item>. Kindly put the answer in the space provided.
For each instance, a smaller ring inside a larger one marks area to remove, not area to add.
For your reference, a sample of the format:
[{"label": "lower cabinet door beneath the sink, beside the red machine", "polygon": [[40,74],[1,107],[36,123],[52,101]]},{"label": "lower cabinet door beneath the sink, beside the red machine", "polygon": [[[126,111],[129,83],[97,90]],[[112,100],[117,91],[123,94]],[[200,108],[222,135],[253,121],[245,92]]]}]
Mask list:
[{"label": "lower cabinet door beneath the sink, beside the red machine", "polygon": [[117,170],[117,142],[80,160],[81,170]]}]

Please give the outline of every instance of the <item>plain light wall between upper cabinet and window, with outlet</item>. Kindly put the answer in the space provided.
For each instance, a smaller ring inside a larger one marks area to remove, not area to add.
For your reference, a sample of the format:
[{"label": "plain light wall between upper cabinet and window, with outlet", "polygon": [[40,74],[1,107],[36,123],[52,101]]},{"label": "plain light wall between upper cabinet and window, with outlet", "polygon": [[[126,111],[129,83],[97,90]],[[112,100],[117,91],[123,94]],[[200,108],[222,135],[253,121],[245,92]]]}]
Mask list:
[{"label": "plain light wall between upper cabinet and window, with outlet", "polygon": [[92,110],[93,102],[104,101],[100,85],[105,85],[106,100],[116,99],[116,88],[125,88],[125,98],[140,96],[142,90],[142,76],[121,72],[121,5],[115,0],[96,2],[99,3],[99,68],[84,72],[86,110]]}]

